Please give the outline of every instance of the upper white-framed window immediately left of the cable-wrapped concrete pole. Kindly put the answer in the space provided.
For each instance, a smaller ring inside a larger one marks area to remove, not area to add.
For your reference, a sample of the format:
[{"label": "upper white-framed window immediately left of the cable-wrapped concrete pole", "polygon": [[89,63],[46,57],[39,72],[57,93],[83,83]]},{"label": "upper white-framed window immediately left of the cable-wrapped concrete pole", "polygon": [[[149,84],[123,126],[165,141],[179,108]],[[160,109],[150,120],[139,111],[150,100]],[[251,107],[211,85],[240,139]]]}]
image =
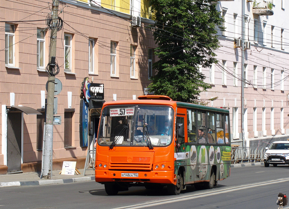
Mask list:
[{"label": "upper white-framed window immediately left of the cable-wrapped concrete pole", "polygon": [[45,68],[45,31],[37,28],[37,68]]}]

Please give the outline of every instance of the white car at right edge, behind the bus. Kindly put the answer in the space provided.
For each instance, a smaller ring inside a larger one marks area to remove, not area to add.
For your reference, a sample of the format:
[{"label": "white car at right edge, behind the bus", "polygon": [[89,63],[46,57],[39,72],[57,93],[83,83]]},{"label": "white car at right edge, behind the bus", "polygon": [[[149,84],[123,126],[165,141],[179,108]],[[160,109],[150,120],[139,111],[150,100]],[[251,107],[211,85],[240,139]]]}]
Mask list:
[{"label": "white car at right edge, behind the bus", "polygon": [[278,164],[289,164],[289,141],[275,141],[265,149],[265,167],[269,167],[270,164],[273,164],[274,167]]}]

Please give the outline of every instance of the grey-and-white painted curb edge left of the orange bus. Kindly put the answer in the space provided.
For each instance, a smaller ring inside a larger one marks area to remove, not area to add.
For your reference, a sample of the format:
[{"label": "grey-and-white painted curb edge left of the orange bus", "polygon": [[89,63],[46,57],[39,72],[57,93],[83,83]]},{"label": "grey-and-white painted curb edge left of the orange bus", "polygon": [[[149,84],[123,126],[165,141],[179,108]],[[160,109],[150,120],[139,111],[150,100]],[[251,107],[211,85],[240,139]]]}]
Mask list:
[{"label": "grey-and-white painted curb edge left of the orange bus", "polygon": [[39,181],[19,181],[19,182],[0,182],[0,187],[7,186],[38,186],[48,184],[66,184],[73,182],[95,181],[95,176],[86,176],[71,179],[39,180]]}]

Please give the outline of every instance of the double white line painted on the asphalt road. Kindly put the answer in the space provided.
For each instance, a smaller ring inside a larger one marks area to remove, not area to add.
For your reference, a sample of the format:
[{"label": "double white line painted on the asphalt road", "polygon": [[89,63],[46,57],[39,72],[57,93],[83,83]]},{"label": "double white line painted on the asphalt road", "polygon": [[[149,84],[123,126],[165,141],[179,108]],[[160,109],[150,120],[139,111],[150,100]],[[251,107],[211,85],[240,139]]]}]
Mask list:
[{"label": "double white line painted on the asphalt road", "polygon": [[[148,201],[140,204],[135,204],[135,205],[130,205],[130,206],[123,206],[123,207],[118,207],[118,208],[111,208],[111,209],[125,209],[125,208],[130,208],[130,209],[137,209],[137,208],[145,208],[145,207],[151,207],[151,206],[156,206],[156,205],[162,205],[162,204],[168,204],[168,203],[173,203],[173,202],[178,202],[182,200],[189,200],[189,199],[196,199],[200,197],[206,197],[209,195],[217,195],[217,194],[222,194],[222,193],[228,193],[236,190],[242,190],[242,189],[248,189],[252,188],[255,186],[264,186],[264,185],[269,185],[269,184],[277,184],[281,182],[287,182],[289,181],[289,178],[283,178],[283,179],[277,179],[277,180],[271,180],[271,181],[266,181],[266,182],[259,182],[259,183],[253,183],[253,184],[246,184],[246,185],[240,185],[240,186],[230,186],[227,188],[223,188],[220,190],[210,190],[210,191],[205,191],[205,192],[200,192],[200,193],[194,193],[191,195],[184,195],[184,196],[177,196],[173,198],[168,198],[168,199],[162,199],[162,200],[154,200],[154,201]],[[285,208],[284,208],[285,209]]]}]

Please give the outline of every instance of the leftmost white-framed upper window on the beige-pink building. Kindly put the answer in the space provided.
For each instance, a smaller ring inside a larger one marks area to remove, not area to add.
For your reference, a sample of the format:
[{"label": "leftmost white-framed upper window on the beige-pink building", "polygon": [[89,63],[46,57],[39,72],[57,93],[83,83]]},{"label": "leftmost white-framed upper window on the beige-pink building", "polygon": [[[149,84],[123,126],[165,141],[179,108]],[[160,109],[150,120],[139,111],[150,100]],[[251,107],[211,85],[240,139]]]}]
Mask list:
[{"label": "leftmost white-framed upper window on the beige-pink building", "polygon": [[5,23],[5,65],[15,66],[15,25]]}]

